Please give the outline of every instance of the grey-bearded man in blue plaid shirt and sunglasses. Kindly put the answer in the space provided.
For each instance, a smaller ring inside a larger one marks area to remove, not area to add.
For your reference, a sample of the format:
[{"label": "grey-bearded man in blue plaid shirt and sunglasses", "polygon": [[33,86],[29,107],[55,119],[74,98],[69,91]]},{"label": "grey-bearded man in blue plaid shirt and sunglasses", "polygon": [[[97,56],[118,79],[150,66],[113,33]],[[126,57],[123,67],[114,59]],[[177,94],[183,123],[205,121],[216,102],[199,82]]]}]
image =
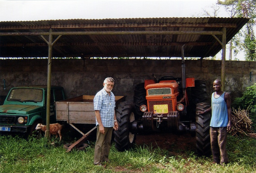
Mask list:
[{"label": "grey-bearded man in blue plaid shirt and sunglasses", "polygon": [[93,163],[100,166],[102,166],[102,162],[108,161],[112,131],[113,129],[118,129],[115,96],[111,92],[114,87],[114,79],[107,77],[103,82],[103,86],[103,89],[93,99],[97,126]]}]

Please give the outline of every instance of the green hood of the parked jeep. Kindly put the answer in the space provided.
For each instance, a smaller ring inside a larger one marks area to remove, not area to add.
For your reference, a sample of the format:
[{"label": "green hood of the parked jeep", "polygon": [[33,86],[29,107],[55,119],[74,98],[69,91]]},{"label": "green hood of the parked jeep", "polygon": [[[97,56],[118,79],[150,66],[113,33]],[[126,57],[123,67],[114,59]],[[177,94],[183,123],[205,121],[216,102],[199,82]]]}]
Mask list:
[{"label": "green hood of the parked jeep", "polygon": [[1,105],[0,113],[31,114],[38,112],[42,106],[35,105]]}]

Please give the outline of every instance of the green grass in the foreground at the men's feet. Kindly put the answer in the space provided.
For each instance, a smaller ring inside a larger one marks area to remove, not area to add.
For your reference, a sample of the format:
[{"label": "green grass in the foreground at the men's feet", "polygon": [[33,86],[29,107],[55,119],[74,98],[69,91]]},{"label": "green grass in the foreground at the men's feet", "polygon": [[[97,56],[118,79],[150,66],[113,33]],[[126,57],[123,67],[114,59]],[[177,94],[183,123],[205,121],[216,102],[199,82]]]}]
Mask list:
[{"label": "green grass in the foreground at the men's feet", "polygon": [[[150,145],[125,152],[111,146],[106,168],[93,165],[94,143],[84,151],[66,152],[63,144],[46,138],[0,136],[1,173],[252,173],[256,172],[256,139],[228,136],[228,165],[212,164],[211,157],[192,151],[173,154]],[[172,151],[175,151],[172,149]]]}]

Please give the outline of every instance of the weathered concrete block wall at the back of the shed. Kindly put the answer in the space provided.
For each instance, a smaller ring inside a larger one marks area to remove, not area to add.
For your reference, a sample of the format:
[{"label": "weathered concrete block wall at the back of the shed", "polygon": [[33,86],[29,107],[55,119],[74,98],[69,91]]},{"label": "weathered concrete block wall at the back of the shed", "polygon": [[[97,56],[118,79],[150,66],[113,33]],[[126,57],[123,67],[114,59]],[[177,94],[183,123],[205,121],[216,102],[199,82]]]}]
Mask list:
[{"label": "weathered concrete block wall at the back of the shed", "polygon": [[[47,59],[0,60],[0,95],[13,86],[47,84]],[[221,75],[219,60],[185,60],[186,77],[206,82],[209,98],[212,82]],[[252,73],[251,73],[252,72]],[[145,79],[181,77],[181,60],[163,59],[52,59],[52,85],[65,88],[67,98],[95,95],[106,77],[113,77],[114,94],[133,100],[134,88]],[[251,74],[251,76],[250,76]],[[226,61],[225,91],[231,100],[241,97],[244,89],[256,83],[256,62]],[[4,90],[4,82],[6,89]],[[250,80],[251,79],[251,80]]]}]

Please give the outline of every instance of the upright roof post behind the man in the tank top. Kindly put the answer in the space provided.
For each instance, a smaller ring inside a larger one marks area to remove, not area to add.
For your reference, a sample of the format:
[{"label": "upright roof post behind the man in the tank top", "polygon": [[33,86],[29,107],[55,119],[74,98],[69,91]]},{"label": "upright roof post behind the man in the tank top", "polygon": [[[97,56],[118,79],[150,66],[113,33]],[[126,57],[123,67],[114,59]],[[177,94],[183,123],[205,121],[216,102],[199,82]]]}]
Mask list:
[{"label": "upright roof post behind the man in the tank top", "polygon": [[221,90],[225,90],[225,65],[226,65],[226,31],[227,28],[222,28],[222,53],[221,53]]}]

